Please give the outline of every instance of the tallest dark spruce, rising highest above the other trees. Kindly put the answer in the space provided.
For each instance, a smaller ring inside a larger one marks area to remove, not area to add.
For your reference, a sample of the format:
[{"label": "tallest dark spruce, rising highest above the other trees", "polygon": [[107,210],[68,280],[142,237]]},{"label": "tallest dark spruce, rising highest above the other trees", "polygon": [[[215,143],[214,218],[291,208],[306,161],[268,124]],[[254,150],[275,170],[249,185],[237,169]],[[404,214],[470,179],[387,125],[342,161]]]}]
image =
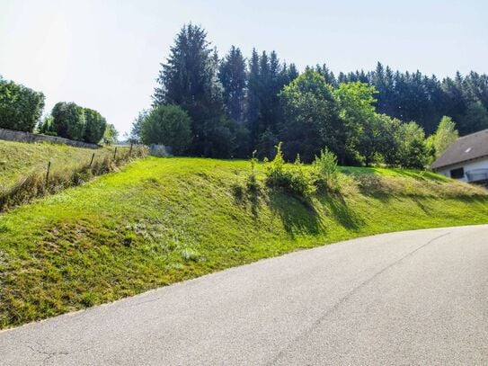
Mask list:
[{"label": "tallest dark spruce, rising highest above the other trees", "polygon": [[[162,65],[153,95],[154,106],[176,104],[191,117],[191,153],[209,156],[214,151],[210,131],[226,129],[222,86],[217,79],[217,52],[210,48],[207,33],[197,25],[185,25],[176,35],[170,56]],[[226,131],[226,134],[230,130]]]}]

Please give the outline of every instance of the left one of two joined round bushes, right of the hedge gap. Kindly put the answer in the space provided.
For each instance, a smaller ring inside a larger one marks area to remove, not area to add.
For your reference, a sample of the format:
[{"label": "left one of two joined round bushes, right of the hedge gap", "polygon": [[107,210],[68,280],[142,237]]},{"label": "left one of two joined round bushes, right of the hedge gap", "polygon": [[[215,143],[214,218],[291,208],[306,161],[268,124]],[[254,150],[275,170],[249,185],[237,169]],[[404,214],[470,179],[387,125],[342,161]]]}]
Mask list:
[{"label": "left one of two joined round bushes, right of the hedge gap", "polygon": [[52,109],[52,126],[59,137],[84,140],[84,109],[75,103],[58,102]]}]

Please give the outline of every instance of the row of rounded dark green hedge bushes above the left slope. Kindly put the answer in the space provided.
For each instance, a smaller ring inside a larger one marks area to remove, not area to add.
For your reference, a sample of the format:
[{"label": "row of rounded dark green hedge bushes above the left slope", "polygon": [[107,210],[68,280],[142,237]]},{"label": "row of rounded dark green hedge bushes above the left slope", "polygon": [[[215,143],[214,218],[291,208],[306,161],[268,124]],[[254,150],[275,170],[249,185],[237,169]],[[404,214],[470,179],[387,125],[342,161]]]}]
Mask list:
[{"label": "row of rounded dark green hedge bushes above the left slope", "polygon": [[0,128],[98,144],[116,140],[118,132],[102,115],[75,103],[59,102],[42,121],[44,94],[0,76]]}]

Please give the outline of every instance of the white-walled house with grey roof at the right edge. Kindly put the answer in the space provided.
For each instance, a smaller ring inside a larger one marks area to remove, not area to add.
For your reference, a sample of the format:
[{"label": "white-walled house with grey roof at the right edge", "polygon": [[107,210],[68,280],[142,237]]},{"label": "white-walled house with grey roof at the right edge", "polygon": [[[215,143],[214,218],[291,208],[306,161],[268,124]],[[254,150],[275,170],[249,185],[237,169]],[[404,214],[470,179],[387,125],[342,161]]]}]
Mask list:
[{"label": "white-walled house with grey roof at the right edge", "polygon": [[457,138],[430,169],[463,182],[488,187],[488,129]]}]

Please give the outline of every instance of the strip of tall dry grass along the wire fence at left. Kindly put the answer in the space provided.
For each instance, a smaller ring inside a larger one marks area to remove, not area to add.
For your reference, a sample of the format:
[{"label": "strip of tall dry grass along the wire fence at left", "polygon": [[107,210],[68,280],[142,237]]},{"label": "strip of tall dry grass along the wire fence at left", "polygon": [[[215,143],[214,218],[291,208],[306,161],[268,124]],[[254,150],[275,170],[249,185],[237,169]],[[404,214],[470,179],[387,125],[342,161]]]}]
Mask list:
[{"label": "strip of tall dry grass along the wire fence at left", "polygon": [[[115,156],[114,156],[115,155]],[[0,186],[0,212],[14,206],[28,203],[37,197],[60,192],[68,187],[83,184],[94,176],[111,173],[132,159],[147,155],[146,147],[133,147],[103,152],[82,163],[73,165],[51,165],[49,169],[34,168],[23,175],[16,183]]]}]

